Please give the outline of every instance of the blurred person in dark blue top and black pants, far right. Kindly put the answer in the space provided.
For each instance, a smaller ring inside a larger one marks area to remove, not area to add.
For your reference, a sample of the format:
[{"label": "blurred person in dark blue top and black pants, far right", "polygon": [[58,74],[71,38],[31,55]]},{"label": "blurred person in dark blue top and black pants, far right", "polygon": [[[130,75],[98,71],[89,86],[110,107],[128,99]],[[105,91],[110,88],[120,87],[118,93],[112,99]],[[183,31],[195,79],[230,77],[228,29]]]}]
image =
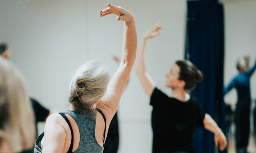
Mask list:
[{"label": "blurred person in dark blue top and black pants, far right", "polygon": [[224,86],[224,95],[232,88],[236,88],[238,102],[236,104],[236,150],[238,153],[246,153],[250,131],[250,78],[256,69],[256,62],[248,71],[244,58],[239,59],[236,65],[238,73],[235,74],[230,82]]}]

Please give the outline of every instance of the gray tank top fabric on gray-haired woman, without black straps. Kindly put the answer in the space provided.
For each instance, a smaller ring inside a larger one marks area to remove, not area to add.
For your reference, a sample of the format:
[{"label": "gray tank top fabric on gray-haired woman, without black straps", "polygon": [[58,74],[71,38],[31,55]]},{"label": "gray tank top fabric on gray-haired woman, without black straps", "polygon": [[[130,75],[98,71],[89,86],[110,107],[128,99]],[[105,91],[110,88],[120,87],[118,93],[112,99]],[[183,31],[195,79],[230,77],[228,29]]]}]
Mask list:
[{"label": "gray tank top fabric on gray-haired woman, without black straps", "polygon": [[[83,117],[77,111],[64,111],[63,113],[69,114],[76,121],[79,128],[80,143],[77,150],[73,153],[102,153],[104,147],[99,145],[95,137],[96,119],[92,121],[90,117]],[[41,141],[43,136],[44,133],[35,140],[34,153],[42,153],[38,142]]]}]

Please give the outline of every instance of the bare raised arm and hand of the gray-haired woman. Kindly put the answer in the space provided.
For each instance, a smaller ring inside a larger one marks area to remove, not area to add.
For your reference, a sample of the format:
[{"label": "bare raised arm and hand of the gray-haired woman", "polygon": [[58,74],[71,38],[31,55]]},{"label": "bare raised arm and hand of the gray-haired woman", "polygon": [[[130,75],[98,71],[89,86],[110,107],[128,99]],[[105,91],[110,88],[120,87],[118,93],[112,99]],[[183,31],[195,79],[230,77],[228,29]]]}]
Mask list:
[{"label": "bare raised arm and hand of the gray-haired woman", "polygon": [[116,14],[116,20],[124,21],[122,59],[118,70],[108,84],[107,91],[97,105],[102,108],[108,122],[111,121],[116,113],[126,82],[134,65],[137,49],[137,33],[134,17],[131,12],[120,7],[108,4],[109,8],[100,10],[100,17],[108,14]]}]

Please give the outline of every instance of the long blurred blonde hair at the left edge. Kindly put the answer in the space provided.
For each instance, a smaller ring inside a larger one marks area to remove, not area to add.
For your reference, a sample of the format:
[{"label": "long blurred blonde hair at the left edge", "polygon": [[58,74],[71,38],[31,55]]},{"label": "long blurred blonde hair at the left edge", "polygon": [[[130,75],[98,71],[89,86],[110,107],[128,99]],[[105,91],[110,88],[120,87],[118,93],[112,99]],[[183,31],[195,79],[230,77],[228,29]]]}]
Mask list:
[{"label": "long blurred blonde hair at the left edge", "polygon": [[[0,57],[0,141],[11,152],[30,149],[35,141],[31,102],[14,64]],[[1,146],[0,146],[1,148]]]}]

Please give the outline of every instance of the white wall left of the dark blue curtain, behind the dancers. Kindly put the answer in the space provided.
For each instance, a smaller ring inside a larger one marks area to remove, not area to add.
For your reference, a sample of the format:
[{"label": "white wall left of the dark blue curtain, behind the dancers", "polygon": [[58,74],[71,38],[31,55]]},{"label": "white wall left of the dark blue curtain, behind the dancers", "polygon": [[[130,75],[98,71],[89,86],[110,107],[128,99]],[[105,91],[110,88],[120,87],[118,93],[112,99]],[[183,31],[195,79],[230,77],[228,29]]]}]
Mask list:
[{"label": "white wall left of the dark blue curtain, behind the dancers", "polygon": [[[147,43],[147,71],[170,94],[165,74],[175,60],[183,59],[185,0],[2,0],[0,41],[9,43],[10,60],[25,75],[29,95],[42,105],[64,111],[71,73],[88,59],[117,70],[112,56],[121,57],[123,23],[115,15],[99,17],[107,3],[133,13],[138,44],[143,32],[161,21],[163,34]],[[151,152],[151,107],[134,69],[118,115],[119,153]]]}]

